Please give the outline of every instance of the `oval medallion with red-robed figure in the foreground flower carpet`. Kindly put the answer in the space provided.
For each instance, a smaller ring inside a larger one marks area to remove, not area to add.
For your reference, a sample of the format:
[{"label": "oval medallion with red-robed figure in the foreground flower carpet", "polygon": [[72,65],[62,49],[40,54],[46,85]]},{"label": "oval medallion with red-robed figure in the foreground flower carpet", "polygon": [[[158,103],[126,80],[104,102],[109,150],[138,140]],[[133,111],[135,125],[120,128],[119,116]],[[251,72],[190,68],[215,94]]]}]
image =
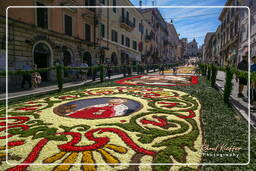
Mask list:
[{"label": "oval medallion with red-robed figure in the foreground flower carpet", "polygon": [[120,97],[99,97],[75,100],[53,109],[54,113],[83,119],[111,118],[129,115],[142,108],[142,104]]}]

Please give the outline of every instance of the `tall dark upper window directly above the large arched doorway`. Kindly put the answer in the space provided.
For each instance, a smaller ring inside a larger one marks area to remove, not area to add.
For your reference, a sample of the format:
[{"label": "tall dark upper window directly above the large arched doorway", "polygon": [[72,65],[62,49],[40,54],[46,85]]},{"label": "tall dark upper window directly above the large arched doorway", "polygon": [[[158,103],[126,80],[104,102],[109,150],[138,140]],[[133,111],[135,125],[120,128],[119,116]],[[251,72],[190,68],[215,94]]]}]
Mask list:
[{"label": "tall dark upper window directly above the large arched doorway", "polygon": [[[44,4],[37,2],[37,6],[44,6]],[[47,8],[37,8],[37,26],[48,28],[48,11]]]}]

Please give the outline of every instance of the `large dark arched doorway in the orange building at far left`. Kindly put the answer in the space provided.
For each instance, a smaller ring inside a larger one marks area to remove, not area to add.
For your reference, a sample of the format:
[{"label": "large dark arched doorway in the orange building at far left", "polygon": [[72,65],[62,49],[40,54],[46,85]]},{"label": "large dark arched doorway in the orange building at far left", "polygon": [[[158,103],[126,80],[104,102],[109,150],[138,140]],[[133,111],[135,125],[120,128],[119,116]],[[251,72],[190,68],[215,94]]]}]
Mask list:
[{"label": "large dark arched doorway in the orange building at far left", "polygon": [[[51,51],[47,44],[40,42],[34,48],[34,64],[37,68],[47,68],[50,65]],[[47,81],[48,72],[41,73],[42,81]]]}]

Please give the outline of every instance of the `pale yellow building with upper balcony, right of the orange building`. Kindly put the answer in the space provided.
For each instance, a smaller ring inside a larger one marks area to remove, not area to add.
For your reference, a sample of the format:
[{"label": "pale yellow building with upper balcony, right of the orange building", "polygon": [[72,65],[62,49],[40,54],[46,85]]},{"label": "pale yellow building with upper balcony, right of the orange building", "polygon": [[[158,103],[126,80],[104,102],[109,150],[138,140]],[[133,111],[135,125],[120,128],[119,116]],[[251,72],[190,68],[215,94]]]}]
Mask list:
[{"label": "pale yellow building with upper balcony, right of the orange building", "polygon": [[[132,6],[129,0],[98,0],[97,5]],[[100,63],[136,64],[141,62],[143,16],[136,8],[97,8],[96,59]]]}]

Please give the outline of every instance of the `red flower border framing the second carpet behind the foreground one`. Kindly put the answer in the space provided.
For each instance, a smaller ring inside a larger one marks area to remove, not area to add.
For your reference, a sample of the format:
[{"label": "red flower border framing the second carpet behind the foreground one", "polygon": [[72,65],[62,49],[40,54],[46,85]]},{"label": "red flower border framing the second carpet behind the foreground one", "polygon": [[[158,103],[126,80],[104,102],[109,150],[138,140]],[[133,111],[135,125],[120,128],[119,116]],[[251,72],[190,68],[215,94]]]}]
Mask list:
[{"label": "red flower border framing the second carpet behind the foreground one", "polygon": [[[166,85],[166,84],[161,84],[161,83],[159,83],[159,84],[137,84],[137,83],[127,83],[126,82],[126,81],[132,81],[135,78],[140,78],[140,77],[143,77],[143,76],[145,76],[145,75],[138,75],[138,76],[135,76],[135,77],[124,78],[124,79],[115,81],[115,83],[122,84],[122,85],[141,85],[141,86],[189,86],[189,85],[193,85],[193,84],[198,84],[198,77],[197,76],[190,76],[190,75],[175,76],[175,77],[191,77],[191,82],[189,84],[171,84],[170,83],[169,85]],[[161,75],[147,75],[147,76],[161,77]],[[167,76],[169,76],[169,75],[167,75]]]}]

